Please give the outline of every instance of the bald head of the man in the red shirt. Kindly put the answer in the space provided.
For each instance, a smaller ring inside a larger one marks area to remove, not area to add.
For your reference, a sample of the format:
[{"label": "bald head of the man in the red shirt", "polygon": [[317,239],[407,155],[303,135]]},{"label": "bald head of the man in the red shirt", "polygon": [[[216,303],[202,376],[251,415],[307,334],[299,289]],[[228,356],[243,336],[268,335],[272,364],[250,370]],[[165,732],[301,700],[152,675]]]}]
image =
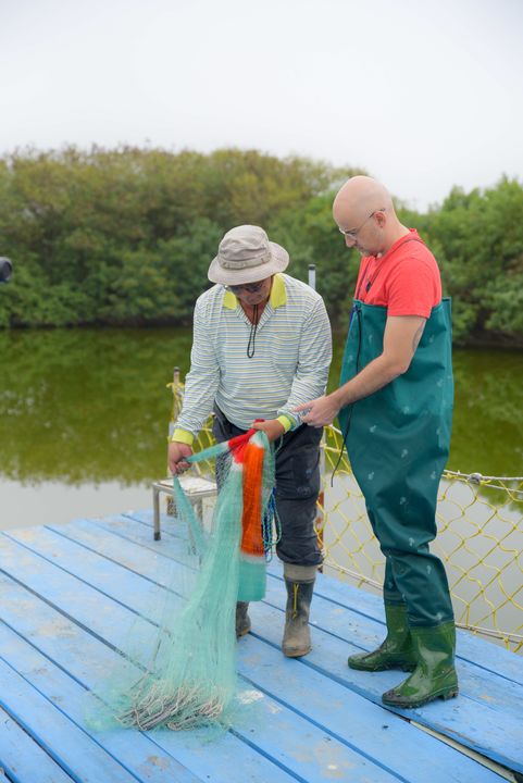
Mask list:
[{"label": "bald head of the man in the red shirt", "polygon": [[396,216],[388,190],[368,176],[347,179],[334,199],[333,216],[346,235],[347,246],[363,256],[386,252],[409,233]]}]

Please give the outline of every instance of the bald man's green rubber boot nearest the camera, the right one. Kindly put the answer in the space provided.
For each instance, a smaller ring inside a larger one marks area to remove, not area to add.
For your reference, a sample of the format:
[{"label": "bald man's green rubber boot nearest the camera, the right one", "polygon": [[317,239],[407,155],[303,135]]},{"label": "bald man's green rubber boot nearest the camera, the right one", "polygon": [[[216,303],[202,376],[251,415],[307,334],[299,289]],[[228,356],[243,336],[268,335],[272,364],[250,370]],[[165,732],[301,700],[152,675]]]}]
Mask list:
[{"label": "bald man's green rubber boot nearest the camera, the right one", "polygon": [[409,709],[421,707],[435,698],[449,699],[457,696],[453,621],[435,627],[411,626],[410,632],[418,666],[400,685],[383,694],[383,703]]}]

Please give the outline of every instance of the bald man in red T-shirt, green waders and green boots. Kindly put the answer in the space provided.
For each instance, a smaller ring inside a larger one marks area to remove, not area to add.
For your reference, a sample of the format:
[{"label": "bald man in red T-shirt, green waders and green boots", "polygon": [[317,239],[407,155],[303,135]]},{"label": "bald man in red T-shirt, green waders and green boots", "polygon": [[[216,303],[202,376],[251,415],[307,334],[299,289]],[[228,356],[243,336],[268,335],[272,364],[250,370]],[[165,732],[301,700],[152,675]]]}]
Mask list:
[{"label": "bald man in red T-shirt, green waders and green boots", "polygon": [[333,207],[362,256],[340,387],[299,406],[311,426],[338,417],[369,519],[385,556],[387,636],[352,669],[411,671],[383,701],[419,707],[458,693],[447,576],[428,550],[453,402],[450,301],[436,260],[396,215],[386,188],[356,176]]}]

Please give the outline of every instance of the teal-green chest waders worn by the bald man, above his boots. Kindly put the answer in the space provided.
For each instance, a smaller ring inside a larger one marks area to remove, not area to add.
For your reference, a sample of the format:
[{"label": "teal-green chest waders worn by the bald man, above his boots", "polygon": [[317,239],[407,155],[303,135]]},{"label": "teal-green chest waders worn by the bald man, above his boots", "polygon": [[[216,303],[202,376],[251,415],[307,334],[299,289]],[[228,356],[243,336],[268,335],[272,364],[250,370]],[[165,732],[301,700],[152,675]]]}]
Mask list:
[{"label": "teal-green chest waders worn by the bald man, above his boots", "polygon": [[[383,351],[387,309],[354,301],[341,384]],[[433,308],[409,370],[339,412],[350,463],[386,559],[384,599],[410,626],[453,619],[441,561],[428,550],[452,422],[450,300]]]}]

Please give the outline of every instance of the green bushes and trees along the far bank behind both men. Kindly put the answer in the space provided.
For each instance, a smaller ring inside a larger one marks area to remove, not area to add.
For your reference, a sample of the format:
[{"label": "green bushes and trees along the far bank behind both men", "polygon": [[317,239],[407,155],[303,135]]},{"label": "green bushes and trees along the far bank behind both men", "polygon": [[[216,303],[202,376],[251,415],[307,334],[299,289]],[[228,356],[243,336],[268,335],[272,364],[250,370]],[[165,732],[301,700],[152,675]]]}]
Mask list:
[{"label": "green bushes and trees along the far bank behind both men", "polygon": [[[357,170],[258,151],[24,150],[0,158],[0,326],[190,324],[223,233],[264,226],[344,328],[359,258],[332,220]],[[454,336],[523,344],[523,187],[453,189],[421,214],[400,207],[435,252],[453,297]]]}]

